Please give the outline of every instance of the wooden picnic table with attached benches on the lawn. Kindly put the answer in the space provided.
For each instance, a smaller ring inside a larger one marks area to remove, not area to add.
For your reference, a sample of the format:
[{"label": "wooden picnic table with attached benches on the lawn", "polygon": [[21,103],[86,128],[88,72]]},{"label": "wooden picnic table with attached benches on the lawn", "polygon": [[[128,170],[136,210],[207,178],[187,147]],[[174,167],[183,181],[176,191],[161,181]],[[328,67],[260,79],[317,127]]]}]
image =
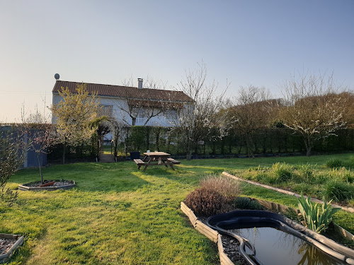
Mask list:
[{"label": "wooden picnic table with attached benches on the lawn", "polygon": [[172,170],[175,170],[173,165],[178,165],[181,162],[178,160],[174,160],[173,158],[170,158],[169,153],[164,153],[164,152],[149,152],[149,153],[144,153],[145,157],[141,159],[135,159],[134,162],[137,164],[138,169],[142,167],[143,165],[144,170],[143,172],[147,169],[149,165],[164,165],[165,167],[170,166]]}]

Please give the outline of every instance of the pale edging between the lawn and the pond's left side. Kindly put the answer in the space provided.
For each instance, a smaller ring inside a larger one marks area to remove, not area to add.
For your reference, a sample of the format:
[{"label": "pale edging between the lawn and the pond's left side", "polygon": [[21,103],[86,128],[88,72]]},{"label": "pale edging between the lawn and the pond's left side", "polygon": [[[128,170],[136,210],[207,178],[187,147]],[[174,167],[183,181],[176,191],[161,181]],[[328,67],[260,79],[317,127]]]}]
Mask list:
[{"label": "pale edging between the lawn and the pond's left side", "polygon": [[207,238],[212,240],[212,242],[217,243],[217,249],[219,250],[220,264],[221,265],[234,265],[234,263],[227,257],[227,254],[224,253],[224,247],[222,246],[222,235],[209,226],[198,220],[197,216],[193,213],[193,211],[185,205],[183,201],[181,201],[181,210],[188,216],[190,223],[192,223],[193,227],[198,230],[202,235],[205,235]]}]

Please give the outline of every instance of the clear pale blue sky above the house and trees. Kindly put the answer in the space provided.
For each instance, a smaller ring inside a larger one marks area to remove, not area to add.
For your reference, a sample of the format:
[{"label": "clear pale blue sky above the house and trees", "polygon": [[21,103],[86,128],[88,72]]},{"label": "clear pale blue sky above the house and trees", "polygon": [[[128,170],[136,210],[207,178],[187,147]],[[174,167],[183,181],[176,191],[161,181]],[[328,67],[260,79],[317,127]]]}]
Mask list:
[{"label": "clear pale blue sky above the house and trees", "polygon": [[293,73],[331,73],[354,89],[354,1],[0,0],[0,122],[52,101],[64,81],[176,86],[207,65],[227,97],[240,86],[280,95]]}]

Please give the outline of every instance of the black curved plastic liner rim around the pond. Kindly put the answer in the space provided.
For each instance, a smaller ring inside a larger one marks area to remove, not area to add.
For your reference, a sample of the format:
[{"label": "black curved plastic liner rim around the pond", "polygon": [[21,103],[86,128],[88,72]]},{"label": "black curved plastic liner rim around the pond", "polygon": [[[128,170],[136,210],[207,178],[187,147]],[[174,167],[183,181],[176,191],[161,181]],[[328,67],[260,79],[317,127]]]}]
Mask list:
[{"label": "black curved plastic liner rim around the pond", "polygon": [[[339,245],[333,240],[304,228],[304,226],[299,225],[285,216],[280,216],[277,213],[270,213],[268,211],[236,210],[229,213],[210,216],[210,218],[207,219],[207,225],[221,234],[229,235],[236,238],[236,240],[239,240],[239,251],[244,259],[246,259],[251,265],[262,264],[261,261],[256,258],[256,249],[253,248],[253,245],[251,245],[249,240],[229,231],[229,229],[234,230],[255,227],[275,228],[287,232],[290,235],[294,235],[295,237],[299,237],[310,245],[314,245],[318,249],[321,249],[322,252],[334,259],[338,259],[338,261],[354,265],[353,249]],[[246,247],[249,247],[251,250],[251,257],[249,254],[246,254]]]}]

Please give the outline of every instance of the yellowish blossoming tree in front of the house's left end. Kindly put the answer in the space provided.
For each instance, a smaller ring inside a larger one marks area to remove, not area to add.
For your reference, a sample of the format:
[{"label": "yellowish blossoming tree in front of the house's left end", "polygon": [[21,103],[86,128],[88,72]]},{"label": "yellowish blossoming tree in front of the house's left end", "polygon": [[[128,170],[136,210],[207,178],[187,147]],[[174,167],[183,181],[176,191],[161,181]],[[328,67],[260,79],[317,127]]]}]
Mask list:
[{"label": "yellowish blossoming tree in front of the house's left end", "polygon": [[89,142],[97,127],[93,122],[98,117],[96,94],[89,94],[86,83],[77,84],[76,93],[62,87],[62,100],[53,105],[52,116],[56,124],[59,142],[63,144],[62,162],[65,163],[67,146]]}]

